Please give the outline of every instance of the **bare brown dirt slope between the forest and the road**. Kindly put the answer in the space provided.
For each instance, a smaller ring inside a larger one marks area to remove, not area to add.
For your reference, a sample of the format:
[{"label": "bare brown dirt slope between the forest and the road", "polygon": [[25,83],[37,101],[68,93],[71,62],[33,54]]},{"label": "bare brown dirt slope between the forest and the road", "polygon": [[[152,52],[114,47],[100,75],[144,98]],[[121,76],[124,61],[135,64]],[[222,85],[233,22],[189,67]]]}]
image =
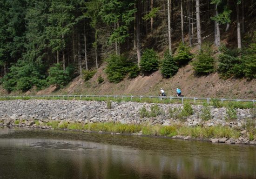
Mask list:
[{"label": "bare brown dirt slope between the forest and the road", "polygon": [[[190,97],[256,98],[256,79],[220,80],[217,73],[197,77],[191,65],[180,68],[178,73],[170,79],[163,79],[161,73],[157,71],[149,76],[126,78],[118,84],[109,83],[103,69],[104,66],[91,80],[84,82],[81,77],[77,77],[67,87],[55,93],[158,95],[162,87],[168,95],[175,95],[175,89],[179,87],[182,94]],[[104,78],[102,84],[97,82],[100,75]]]}]

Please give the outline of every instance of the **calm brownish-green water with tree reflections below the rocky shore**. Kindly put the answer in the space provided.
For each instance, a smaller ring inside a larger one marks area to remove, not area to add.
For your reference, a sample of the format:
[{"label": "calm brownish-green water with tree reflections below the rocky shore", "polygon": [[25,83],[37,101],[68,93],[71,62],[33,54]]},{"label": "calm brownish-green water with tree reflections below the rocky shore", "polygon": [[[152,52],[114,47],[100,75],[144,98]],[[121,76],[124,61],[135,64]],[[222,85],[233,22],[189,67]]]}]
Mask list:
[{"label": "calm brownish-green water with tree reflections below the rocky shore", "polygon": [[16,131],[0,135],[0,166],[0,179],[254,179],[256,147]]}]

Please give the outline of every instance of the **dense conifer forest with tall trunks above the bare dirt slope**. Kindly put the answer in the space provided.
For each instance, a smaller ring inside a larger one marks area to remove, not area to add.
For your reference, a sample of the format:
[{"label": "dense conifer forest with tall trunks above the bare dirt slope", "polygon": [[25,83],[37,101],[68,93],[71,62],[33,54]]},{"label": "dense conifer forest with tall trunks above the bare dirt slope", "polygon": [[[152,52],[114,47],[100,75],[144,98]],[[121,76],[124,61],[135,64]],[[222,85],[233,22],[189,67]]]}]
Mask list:
[{"label": "dense conifer forest with tall trunks above the bare dirt slope", "polygon": [[252,80],[255,29],[256,0],[0,0],[0,84],[63,87],[101,65],[114,83],[159,69],[170,78],[188,63]]}]

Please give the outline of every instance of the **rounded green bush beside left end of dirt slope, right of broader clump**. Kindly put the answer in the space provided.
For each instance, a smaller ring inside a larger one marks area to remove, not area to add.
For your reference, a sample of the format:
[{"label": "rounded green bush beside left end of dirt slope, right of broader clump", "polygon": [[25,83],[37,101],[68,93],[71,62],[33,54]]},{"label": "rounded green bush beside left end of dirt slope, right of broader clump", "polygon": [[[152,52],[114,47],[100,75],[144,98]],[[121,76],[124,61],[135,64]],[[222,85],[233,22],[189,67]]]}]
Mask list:
[{"label": "rounded green bush beside left end of dirt slope, right of broader clump", "polygon": [[48,85],[65,86],[72,79],[74,69],[63,70],[60,63],[54,64],[48,70],[49,76],[47,77]]}]

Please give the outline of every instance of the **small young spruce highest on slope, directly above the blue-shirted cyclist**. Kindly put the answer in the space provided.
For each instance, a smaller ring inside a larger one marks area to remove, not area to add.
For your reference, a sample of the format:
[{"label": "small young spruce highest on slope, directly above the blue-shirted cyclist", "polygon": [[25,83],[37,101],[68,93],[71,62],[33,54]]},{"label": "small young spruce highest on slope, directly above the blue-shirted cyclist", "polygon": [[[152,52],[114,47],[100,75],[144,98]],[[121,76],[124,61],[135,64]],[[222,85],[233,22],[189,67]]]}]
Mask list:
[{"label": "small young spruce highest on slope, directly above the blue-shirted cyclist", "polygon": [[182,42],[179,44],[177,51],[175,60],[179,66],[187,65],[192,60],[193,55],[189,52],[189,47]]}]

